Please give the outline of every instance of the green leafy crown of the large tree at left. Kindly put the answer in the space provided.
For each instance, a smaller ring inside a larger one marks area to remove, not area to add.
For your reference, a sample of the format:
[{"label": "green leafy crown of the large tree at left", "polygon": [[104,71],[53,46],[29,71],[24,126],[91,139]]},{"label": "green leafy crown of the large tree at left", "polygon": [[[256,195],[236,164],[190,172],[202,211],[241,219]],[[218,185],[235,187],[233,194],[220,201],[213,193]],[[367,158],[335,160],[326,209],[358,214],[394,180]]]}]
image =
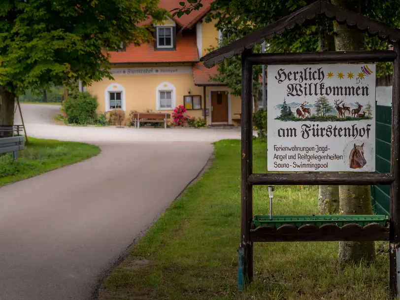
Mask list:
[{"label": "green leafy crown of the large tree at left", "polygon": [[152,40],[158,0],[13,0],[0,4],[0,125],[13,124],[14,98],[80,79],[112,78],[108,54],[121,43]]}]

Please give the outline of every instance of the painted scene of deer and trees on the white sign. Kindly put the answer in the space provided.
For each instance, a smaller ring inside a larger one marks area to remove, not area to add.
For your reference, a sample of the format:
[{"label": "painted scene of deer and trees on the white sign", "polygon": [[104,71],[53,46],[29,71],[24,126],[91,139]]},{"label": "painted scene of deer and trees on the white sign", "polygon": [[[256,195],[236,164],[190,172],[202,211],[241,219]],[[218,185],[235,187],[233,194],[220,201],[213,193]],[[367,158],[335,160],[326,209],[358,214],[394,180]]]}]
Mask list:
[{"label": "painted scene of deer and trees on the white sign", "polygon": [[282,104],[275,106],[280,110],[280,115],[275,120],[281,121],[355,121],[372,119],[372,106],[360,102],[345,102],[336,99],[330,103],[325,96],[319,97],[315,103],[304,102],[287,103],[286,98]]}]

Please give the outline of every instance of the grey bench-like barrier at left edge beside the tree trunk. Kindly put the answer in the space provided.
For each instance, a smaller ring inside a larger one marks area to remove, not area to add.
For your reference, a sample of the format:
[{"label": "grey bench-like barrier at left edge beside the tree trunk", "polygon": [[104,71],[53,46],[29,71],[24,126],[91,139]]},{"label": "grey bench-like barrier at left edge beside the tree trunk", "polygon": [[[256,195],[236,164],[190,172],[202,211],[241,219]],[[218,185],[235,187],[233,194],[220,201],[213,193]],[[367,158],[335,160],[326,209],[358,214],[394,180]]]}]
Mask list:
[{"label": "grey bench-like barrier at left edge beside the tree trunk", "polygon": [[[18,158],[18,151],[25,149],[25,137],[19,135],[22,129],[22,125],[0,126],[0,154],[12,152],[12,157]],[[6,136],[5,133],[11,133],[11,136]]]}]

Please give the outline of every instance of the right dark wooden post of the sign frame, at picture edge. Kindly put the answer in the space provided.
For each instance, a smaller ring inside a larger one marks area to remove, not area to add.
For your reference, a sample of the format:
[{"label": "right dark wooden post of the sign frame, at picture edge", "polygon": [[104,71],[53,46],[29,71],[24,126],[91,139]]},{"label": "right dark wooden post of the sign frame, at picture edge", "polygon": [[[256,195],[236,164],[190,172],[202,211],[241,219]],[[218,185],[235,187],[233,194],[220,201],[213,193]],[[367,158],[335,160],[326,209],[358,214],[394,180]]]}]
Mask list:
[{"label": "right dark wooden post of the sign frame, at picture edge", "polygon": [[392,157],[390,171],[394,181],[390,185],[390,260],[389,287],[393,297],[399,297],[400,277],[400,49],[399,42],[393,45],[397,58],[393,62],[392,79]]}]

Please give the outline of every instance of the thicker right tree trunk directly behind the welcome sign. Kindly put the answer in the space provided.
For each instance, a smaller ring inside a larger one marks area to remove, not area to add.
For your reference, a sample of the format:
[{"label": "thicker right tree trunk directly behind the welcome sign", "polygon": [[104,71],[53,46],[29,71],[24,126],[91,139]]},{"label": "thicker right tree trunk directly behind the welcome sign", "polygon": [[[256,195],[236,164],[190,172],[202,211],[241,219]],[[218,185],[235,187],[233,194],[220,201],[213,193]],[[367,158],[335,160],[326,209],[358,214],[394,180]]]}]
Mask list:
[{"label": "thicker right tree trunk directly behind the welcome sign", "polygon": [[[332,0],[342,8],[360,12],[360,0]],[[356,51],[364,48],[364,35],[357,29],[333,23],[336,51]],[[372,214],[371,191],[369,186],[340,186],[340,212],[346,215]],[[375,242],[339,242],[340,263],[368,262],[375,258]]]}]

